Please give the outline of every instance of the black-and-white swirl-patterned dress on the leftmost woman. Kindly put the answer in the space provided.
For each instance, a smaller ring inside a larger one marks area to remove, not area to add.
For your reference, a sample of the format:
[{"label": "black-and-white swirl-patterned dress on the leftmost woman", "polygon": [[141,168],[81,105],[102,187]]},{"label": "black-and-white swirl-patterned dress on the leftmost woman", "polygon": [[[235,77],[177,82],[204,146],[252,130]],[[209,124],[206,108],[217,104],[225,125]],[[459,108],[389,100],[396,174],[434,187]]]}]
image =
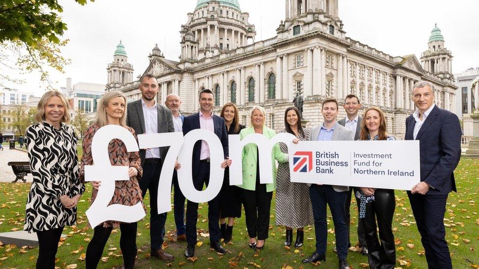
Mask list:
[{"label": "black-and-white swirl-patterned dress on the leftmost woman", "polygon": [[74,225],[77,207],[67,209],[60,196],[74,197],[85,187],[78,178],[77,137],[63,123],[55,129],[47,122],[28,127],[26,142],[33,182],[27,197],[24,230],[47,231]]}]

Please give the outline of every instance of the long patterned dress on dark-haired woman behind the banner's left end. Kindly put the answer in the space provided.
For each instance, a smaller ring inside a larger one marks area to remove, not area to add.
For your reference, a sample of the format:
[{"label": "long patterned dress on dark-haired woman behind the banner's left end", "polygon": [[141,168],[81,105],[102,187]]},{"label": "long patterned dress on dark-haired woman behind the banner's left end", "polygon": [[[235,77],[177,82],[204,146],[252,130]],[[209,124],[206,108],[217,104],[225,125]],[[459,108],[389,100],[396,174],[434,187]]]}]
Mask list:
[{"label": "long patterned dress on dark-haired woman behind the banner's left end", "polygon": [[[300,141],[308,141],[310,129],[303,129],[304,136],[299,136]],[[286,129],[279,133],[286,133]],[[283,153],[288,153],[288,147],[280,143]],[[276,175],[276,225],[292,228],[301,228],[313,225],[313,208],[309,198],[308,185],[290,181],[289,163],[279,163]]]}]

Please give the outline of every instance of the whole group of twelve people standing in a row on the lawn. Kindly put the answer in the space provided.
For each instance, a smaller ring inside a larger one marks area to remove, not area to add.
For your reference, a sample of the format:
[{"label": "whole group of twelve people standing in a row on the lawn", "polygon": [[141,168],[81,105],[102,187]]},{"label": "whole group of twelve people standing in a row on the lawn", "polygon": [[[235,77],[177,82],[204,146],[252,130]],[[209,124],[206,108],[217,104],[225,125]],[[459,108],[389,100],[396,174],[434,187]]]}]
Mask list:
[{"label": "whole group of twelve people standing in a row on the lawn", "polygon": [[[273,183],[260,181],[258,147],[248,144],[242,152],[242,184],[230,186],[228,167],[228,135],[239,134],[240,139],[250,134],[263,134],[268,139],[276,133],[266,127],[266,111],[261,106],[251,109],[249,127],[239,124],[239,110],[234,103],[226,103],[220,116],[213,114],[214,95],[205,89],[199,94],[198,113],[183,116],[181,99],[175,94],[166,97],[162,106],[156,102],[158,82],[146,74],[140,79],[141,99],[127,104],[118,91],[106,93],[98,103],[95,123],[83,139],[81,162],[77,159],[77,137],[68,126],[70,113],[65,97],[55,91],[47,92],[38,103],[37,123],[27,129],[26,142],[33,183],[27,200],[25,230],[36,232],[39,240],[37,268],[54,268],[57,243],[65,225],[76,222],[76,206],[85,190],[84,166],[92,165],[91,142],[96,131],[108,124],[127,128],[133,136],[164,132],[183,132],[206,129],[220,140],[224,152],[221,168],[225,169],[219,194],[208,202],[208,229],[210,246],[218,253],[226,253],[223,243],[233,238],[235,219],[241,217],[244,207],[250,248],[261,250],[268,238],[271,201],[276,191],[275,224],[285,226],[285,246],[303,246],[304,227],[315,225],[316,249],[303,260],[315,263],[326,258],[327,205],[333,218],[336,252],[339,268],[349,268],[347,251],[351,246],[350,202],[354,195],[358,205],[358,239],[361,252],[368,255],[371,268],[394,268],[396,253],[392,221],[395,210],[394,190],[351,188],[348,186],[303,184],[290,181],[288,147],[276,144],[271,152]],[[434,104],[434,86],[429,82],[414,85],[412,99],[417,107],[406,119],[406,140],[419,140],[421,152],[421,182],[408,196],[422,237],[429,268],[452,268],[445,241],[443,217],[449,192],[455,191],[453,170],[460,157],[461,129],[457,117]],[[301,113],[296,107],[285,111],[281,132],[291,133],[300,141],[395,140],[386,133],[386,118],[379,107],[369,107],[359,116],[361,103],[355,95],[344,100],[346,118],[337,121],[338,101],[326,98],[322,102],[321,123],[312,129],[303,128]],[[166,213],[158,214],[157,195],[162,160],[167,148],[148,148],[128,152],[121,140],[108,145],[110,163],[128,166],[130,180],[116,181],[110,204],[135,205],[150,193],[150,257],[171,261],[174,257],[162,250]],[[279,163],[276,166],[276,161]],[[181,164],[175,164],[175,170]],[[262,168],[263,169],[263,168]],[[197,141],[192,154],[192,178],[197,190],[208,186],[210,178],[210,149],[205,141]],[[101,181],[91,182],[92,202]],[[197,243],[198,203],[186,202],[173,172],[174,219],[177,240],[186,241],[186,257],[193,257]],[[146,207],[145,207],[146,210]],[[96,268],[107,239],[114,228],[120,228],[120,248],[125,268],[133,268],[136,249],[137,224],[105,221],[92,227],[93,238],[86,251],[86,268]],[[378,232],[377,232],[378,231]],[[379,239],[378,235],[379,234]],[[246,242],[244,243],[246,245]]]}]

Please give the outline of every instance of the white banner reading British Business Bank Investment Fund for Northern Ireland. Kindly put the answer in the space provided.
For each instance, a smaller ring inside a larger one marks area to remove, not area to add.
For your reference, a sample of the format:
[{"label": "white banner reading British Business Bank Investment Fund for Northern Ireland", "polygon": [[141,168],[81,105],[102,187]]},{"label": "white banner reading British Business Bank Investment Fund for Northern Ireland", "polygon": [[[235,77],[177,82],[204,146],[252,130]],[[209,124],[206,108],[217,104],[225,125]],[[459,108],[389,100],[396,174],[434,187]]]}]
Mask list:
[{"label": "white banner reading British Business Bank Investment Fund for Northern Ireland", "polygon": [[420,182],[419,141],[291,144],[292,182],[411,190]]}]

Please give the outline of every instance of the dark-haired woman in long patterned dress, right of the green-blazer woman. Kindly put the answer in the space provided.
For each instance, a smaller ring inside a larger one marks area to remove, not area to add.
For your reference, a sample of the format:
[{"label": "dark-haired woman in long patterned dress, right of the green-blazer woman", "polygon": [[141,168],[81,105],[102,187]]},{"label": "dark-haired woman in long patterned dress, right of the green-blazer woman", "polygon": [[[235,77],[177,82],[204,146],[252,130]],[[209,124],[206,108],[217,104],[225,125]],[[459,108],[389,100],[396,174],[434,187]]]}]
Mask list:
[{"label": "dark-haired woman in long patterned dress, right of the green-blazer woman", "polygon": [[[285,112],[285,128],[280,133],[291,133],[300,141],[308,141],[310,129],[303,129],[301,116],[295,107],[288,107]],[[288,147],[280,143],[281,151],[288,153]],[[279,163],[276,175],[276,225],[286,226],[284,245],[293,241],[293,228],[296,228],[295,247],[303,246],[304,226],[313,225],[313,209],[309,199],[308,185],[290,181],[289,163]]]}]

